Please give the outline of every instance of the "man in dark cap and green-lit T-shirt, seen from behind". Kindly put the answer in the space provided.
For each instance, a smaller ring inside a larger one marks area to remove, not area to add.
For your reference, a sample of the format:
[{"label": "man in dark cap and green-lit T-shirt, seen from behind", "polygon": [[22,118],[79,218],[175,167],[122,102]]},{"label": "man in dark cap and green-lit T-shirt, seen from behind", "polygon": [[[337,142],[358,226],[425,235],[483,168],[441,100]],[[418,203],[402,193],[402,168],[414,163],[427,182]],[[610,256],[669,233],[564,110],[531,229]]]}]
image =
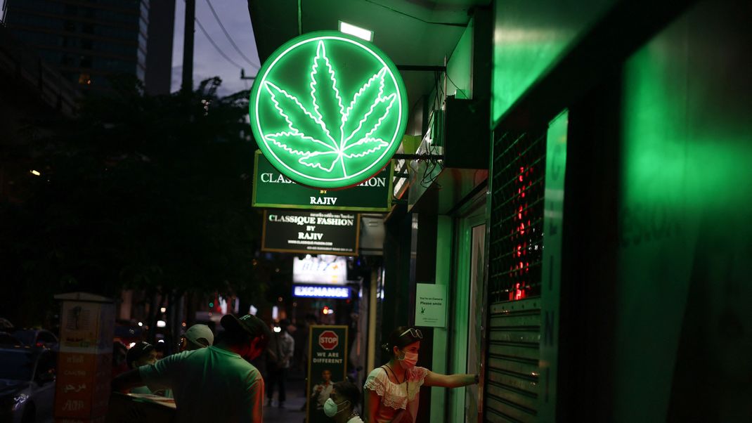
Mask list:
[{"label": "man in dark cap and green-lit T-shirt, seen from behind", "polygon": [[264,381],[250,361],[259,357],[271,338],[256,316],[220,320],[223,332],[207,348],[184,351],[156,364],[118,376],[113,391],[146,384],[171,388],[177,406],[175,421],[261,422]]}]

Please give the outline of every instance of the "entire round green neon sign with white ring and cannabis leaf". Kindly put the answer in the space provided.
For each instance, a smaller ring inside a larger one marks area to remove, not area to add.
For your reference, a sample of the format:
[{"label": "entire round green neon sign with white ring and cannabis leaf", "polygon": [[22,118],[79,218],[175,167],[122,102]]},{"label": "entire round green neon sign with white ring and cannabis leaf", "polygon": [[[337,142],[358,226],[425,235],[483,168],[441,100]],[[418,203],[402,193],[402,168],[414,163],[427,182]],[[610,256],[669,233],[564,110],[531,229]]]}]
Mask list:
[{"label": "entire round green neon sign with white ring and cannabis leaf", "polygon": [[312,32],[277,49],[250,93],[250,124],[266,158],[307,186],[337,189],[374,176],[399,148],[407,94],[372,44]]}]

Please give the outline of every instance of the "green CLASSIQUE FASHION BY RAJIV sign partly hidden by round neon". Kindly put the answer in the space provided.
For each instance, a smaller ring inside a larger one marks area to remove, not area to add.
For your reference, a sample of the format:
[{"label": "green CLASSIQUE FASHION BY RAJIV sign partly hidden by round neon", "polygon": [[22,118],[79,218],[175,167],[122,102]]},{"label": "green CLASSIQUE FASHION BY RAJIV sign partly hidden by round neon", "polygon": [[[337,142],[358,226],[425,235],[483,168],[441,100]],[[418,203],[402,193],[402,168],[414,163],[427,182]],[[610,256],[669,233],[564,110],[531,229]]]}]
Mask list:
[{"label": "green CLASSIQUE FASHION BY RAJIV sign partly hidden by round neon", "polygon": [[253,207],[387,212],[392,207],[393,166],[369,180],[337,191],[294,183],[277,171],[260,151],[253,167]]}]

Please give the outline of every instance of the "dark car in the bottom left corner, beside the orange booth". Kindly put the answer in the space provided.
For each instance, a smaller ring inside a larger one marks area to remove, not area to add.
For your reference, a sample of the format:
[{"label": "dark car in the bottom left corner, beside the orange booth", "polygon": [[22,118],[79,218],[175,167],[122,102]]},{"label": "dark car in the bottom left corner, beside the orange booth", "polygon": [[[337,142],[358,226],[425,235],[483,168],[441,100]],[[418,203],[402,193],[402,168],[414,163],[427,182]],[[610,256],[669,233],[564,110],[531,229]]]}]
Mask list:
[{"label": "dark car in the bottom left corner, beside the orange booth", "polygon": [[0,348],[0,421],[51,421],[55,358],[45,348]]}]

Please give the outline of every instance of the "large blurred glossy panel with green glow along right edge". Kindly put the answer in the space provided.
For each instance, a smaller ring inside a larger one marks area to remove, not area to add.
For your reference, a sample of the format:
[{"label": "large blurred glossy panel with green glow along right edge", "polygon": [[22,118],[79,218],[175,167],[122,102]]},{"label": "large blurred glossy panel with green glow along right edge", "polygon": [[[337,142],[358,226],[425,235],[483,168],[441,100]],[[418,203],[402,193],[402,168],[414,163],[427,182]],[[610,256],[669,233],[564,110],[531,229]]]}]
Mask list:
[{"label": "large blurred glossy panel with green glow along right edge", "polygon": [[749,2],[700,2],[626,62],[616,421],[750,421]]}]

